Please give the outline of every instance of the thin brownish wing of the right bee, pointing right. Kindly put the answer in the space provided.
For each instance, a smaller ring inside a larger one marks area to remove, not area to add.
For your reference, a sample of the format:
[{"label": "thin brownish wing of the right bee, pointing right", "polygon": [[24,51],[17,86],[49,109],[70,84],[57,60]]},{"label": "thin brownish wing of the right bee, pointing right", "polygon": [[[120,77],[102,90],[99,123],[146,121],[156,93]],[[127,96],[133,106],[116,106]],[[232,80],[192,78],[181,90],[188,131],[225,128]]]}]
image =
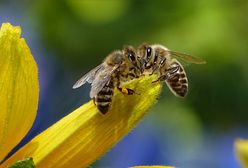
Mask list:
[{"label": "thin brownish wing of the right bee, pointing right", "polygon": [[193,57],[191,55],[180,53],[176,51],[169,51],[172,57],[179,58],[186,63],[194,63],[194,64],[206,64],[207,62],[199,57]]}]

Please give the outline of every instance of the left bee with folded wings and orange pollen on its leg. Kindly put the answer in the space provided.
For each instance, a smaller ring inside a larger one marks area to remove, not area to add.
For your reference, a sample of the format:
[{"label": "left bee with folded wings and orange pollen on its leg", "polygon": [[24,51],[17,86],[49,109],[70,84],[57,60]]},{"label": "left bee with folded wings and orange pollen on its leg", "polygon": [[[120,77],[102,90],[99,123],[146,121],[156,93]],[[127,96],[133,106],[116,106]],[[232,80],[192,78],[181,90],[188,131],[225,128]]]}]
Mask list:
[{"label": "left bee with folded wings and orange pollen on its leg", "polygon": [[132,95],[134,90],[121,88],[122,82],[140,76],[140,64],[134,48],[131,46],[110,53],[104,61],[81,77],[73,89],[79,88],[86,82],[91,84],[90,98],[102,114],[106,114],[111,106],[115,87],[123,94]]}]

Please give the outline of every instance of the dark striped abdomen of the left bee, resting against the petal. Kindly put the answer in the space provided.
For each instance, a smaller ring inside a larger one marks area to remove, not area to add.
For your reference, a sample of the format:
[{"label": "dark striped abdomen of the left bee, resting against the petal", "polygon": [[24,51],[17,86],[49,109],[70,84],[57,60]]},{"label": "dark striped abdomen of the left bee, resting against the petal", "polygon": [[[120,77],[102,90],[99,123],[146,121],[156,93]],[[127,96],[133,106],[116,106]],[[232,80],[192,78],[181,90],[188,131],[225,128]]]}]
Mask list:
[{"label": "dark striped abdomen of the left bee, resting against the petal", "polygon": [[102,114],[106,114],[110,108],[112,97],[114,94],[114,84],[113,81],[110,80],[102,90],[96,95],[94,102],[98,108],[98,110]]}]

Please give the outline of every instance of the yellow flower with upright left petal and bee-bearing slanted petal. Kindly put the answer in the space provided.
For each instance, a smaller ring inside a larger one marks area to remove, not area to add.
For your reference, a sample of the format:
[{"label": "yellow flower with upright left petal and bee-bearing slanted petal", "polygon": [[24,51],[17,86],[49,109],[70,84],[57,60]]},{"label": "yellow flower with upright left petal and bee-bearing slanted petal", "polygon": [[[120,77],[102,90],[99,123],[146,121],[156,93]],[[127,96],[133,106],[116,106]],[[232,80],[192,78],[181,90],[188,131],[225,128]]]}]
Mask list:
[{"label": "yellow flower with upright left petal and bee-bearing slanted petal", "polygon": [[[38,70],[20,27],[9,23],[0,30],[0,160],[31,128],[37,111]],[[110,111],[99,113],[93,101],[82,105],[33,138],[0,168],[33,159],[36,167],[86,167],[133,129],[154,104],[161,85],[145,75],[126,83],[140,95],[115,91]],[[26,159],[25,158],[32,158]],[[17,164],[16,164],[17,165]]]}]

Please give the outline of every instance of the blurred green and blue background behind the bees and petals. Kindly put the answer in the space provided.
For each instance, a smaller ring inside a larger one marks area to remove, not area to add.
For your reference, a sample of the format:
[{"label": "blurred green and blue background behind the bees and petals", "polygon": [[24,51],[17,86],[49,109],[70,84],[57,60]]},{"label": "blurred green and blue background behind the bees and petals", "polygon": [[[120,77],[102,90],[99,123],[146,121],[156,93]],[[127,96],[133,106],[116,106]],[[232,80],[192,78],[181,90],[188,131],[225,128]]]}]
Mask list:
[{"label": "blurred green and blue background behind the bees and petals", "polygon": [[248,138],[247,11],[247,0],[1,0],[0,22],[22,26],[39,66],[39,111],[21,145],[89,100],[89,85],[71,87],[112,50],[160,43],[208,64],[185,67],[187,98],[165,86],[138,127],[92,166],[240,167],[233,142]]}]

